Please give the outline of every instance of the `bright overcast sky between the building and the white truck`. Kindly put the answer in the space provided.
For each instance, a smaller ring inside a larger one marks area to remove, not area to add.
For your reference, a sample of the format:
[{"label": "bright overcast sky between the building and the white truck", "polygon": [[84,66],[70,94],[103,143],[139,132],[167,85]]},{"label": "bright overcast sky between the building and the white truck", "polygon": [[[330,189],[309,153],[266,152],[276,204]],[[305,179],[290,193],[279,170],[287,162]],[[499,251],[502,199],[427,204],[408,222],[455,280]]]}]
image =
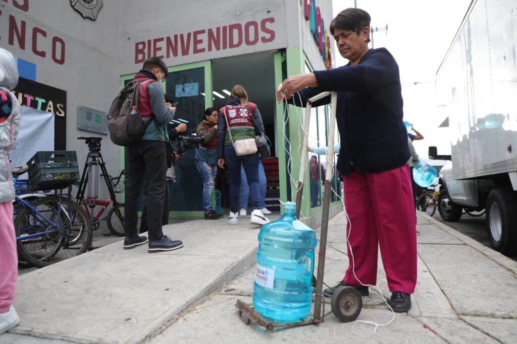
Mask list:
[{"label": "bright overcast sky between the building and the white truck", "polygon": [[[450,154],[448,129],[438,129],[447,114],[445,108],[438,107],[434,97],[434,80],[470,2],[357,0],[357,7],[370,14],[371,26],[381,29],[388,25],[387,31],[374,32],[374,47],[386,47],[399,64],[404,119],[413,123],[424,136],[424,140],[415,142],[422,157],[427,157],[429,145],[438,146],[439,154]],[[353,0],[333,0],[332,3],[334,16],[345,8],[354,7]],[[337,50],[336,55],[338,67],[348,62]],[[414,85],[415,82],[418,84]]]}]

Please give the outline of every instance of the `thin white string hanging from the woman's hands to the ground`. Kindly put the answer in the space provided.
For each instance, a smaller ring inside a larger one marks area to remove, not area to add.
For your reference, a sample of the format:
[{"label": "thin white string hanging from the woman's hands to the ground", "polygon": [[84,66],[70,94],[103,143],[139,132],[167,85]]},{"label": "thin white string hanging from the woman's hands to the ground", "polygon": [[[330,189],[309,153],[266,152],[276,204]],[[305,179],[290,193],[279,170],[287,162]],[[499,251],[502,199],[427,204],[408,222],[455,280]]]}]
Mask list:
[{"label": "thin white string hanging from the woman's hands to the ground", "polygon": [[[300,94],[299,94],[298,92],[296,92],[296,93],[297,93],[297,95],[298,95],[298,97],[299,97],[300,105],[301,105],[301,96],[300,96]],[[284,95],[285,95],[285,92],[284,92]],[[288,108],[288,105],[286,104],[285,109],[287,109],[287,108]],[[297,109],[297,107],[296,107],[296,106],[295,106],[295,109]],[[330,104],[330,110],[332,110],[332,104]],[[286,112],[286,111],[287,111],[287,120],[285,120],[285,112]],[[286,111],[284,110],[284,125],[283,125],[283,128],[282,128],[282,131],[283,131],[284,139],[289,143],[289,146],[291,147],[291,142],[287,139],[287,136],[285,135],[285,125],[286,125],[286,123],[287,123],[287,121],[288,121],[288,118],[289,118],[289,110],[287,109]],[[303,124],[302,124],[302,122],[303,122],[303,121],[301,120],[301,116],[299,116],[298,110],[297,110],[297,114],[298,114],[298,117],[299,117],[300,126],[301,126],[301,128],[302,128],[302,130],[303,130],[303,133],[307,134],[309,137],[311,137],[312,139],[314,139],[314,140],[317,142],[318,146],[322,146],[322,143],[320,142],[320,140],[318,140],[318,139],[317,139],[317,137],[313,137],[313,136],[311,136],[311,135],[309,134],[309,132],[306,130],[306,128],[305,128],[305,123],[303,123]],[[309,113],[309,115],[308,115],[308,116],[310,116],[310,113]],[[329,125],[330,125],[330,123],[329,123]],[[300,135],[300,132],[298,132],[298,134]],[[299,139],[299,141],[301,142],[301,139]],[[334,143],[333,143],[333,142],[330,142],[330,144],[334,145]],[[323,146],[326,146],[326,145],[323,145]],[[301,149],[307,149],[307,147],[302,147]],[[325,152],[325,156],[326,156],[327,162],[330,160],[330,156],[329,156],[329,154],[328,154],[328,153],[329,153],[329,152],[328,152],[328,148],[327,148],[327,150],[326,150],[326,152]],[[291,150],[291,152],[290,152],[290,154],[289,154],[289,158],[290,158],[290,159],[291,159],[291,154],[292,154],[292,150]],[[336,152],[334,152],[334,154],[336,154]],[[301,151],[300,151],[300,157],[299,157],[299,158],[300,158],[300,161],[301,161]],[[333,163],[335,163],[335,162],[333,161]],[[328,164],[327,164],[327,165],[328,165]],[[288,166],[289,166],[289,164],[288,164]],[[327,169],[328,169],[328,168],[331,168],[331,169],[332,169],[331,171],[332,171],[332,175],[333,175],[333,174],[334,174],[334,166],[333,166],[333,165],[331,165],[331,166],[327,166]],[[287,173],[289,174],[290,179],[291,179],[291,181],[293,182],[293,177],[292,177],[291,171],[289,171],[289,169],[287,169],[287,170],[288,170],[288,171],[287,171]],[[301,186],[300,186],[300,187],[301,187]],[[299,190],[299,189],[297,189],[297,191],[298,191],[298,190]],[[387,300],[386,300],[386,298],[384,297],[383,293],[381,292],[381,289],[379,289],[377,286],[374,286],[374,285],[371,285],[371,284],[363,284],[363,283],[358,279],[358,277],[357,277],[357,275],[356,275],[356,273],[355,273],[355,259],[354,259],[354,253],[353,253],[353,251],[352,251],[352,245],[350,244],[350,241],[349,241],[350,234],[352,233],[352,221],[350,220],[350,218],[349,218],[349,216],[348,216],[348,212],[346,211],[345,202],[344,202],[343,198],[341,198],[341,195],[339,195],[339,194],[336,192],[336,190],[334,190],[334,189],[332,188],[332,186],[330,187],[330,190],[331,190],[331,192],[333,192],[333,193],[337,196],[337,198],[341,201],[341,204],[343,205],[343,210],[345,211],[346,221],[347,221],[347,223],[349,224],[348,235],[346,236],[346,244],[348,245],[348,249],[350,250],[350,255],[351,255],[351,257],[352,257],[352,272],[353,272],[353,274],[354,274],[355,279],[356,279],[356,280],[361,284],[361,286],[375,288],[375,289],[378,291],[378,293],[381,295],[381,297],[383,298],[384,303],[386,303],[386,305],[387,305],[387,306],[389,307],[389,309],[391,310],[391,313],[393,313],[393,317],[391,318],[391,320],[390,320],[390,321],[388,321],[388,322],[387,322],[387,323],[385,323],[385,324],[379,324],[379,323],[376,323],[376,322],[374,322],[374,321],[368,321],[368,320],[356,320],[356,322],[362,322],[362,323],[366,323],[366,324],[372,324],[372,325],[374,325],[374,326],[375,326],[375,329],[373,330],[373,333],[376,333],[376,332],[377,332],[377,327],[379,327],[379,326],[381,326],[381,327],[383,327],[383,326],[388,326],[389,324],[391,324],[391,323],[393,322],[393,320],[395,320],[395,312],[393,311],[393,308],[391,308],[391,306],[389,305],[388,301],[387,301]],[[283,203],[283,202],[282,202],[282,203]],[[301,210],[300,210],[300,214],[301,214]]]}]

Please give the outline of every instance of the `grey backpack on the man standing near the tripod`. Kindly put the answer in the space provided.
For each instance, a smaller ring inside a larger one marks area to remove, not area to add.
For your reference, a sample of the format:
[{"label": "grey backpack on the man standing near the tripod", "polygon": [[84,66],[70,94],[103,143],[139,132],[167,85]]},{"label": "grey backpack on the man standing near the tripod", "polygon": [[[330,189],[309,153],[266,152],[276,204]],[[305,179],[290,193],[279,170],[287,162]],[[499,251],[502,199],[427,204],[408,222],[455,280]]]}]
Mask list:
[{"label": "grey backpack on the man standing near the tripod", "polygon": [[[140,83],[149,78],[130,81],[118,95],[108,111],[108,130],[110,139],[119,146],[128,146],[139,142],[144,136],[145,129],[154,120],[153,116],[146,122],[142,121],[138,110]],[[152,82],[152,81],[151,81]],[[136,108],[133,109],[133,106]]]}]

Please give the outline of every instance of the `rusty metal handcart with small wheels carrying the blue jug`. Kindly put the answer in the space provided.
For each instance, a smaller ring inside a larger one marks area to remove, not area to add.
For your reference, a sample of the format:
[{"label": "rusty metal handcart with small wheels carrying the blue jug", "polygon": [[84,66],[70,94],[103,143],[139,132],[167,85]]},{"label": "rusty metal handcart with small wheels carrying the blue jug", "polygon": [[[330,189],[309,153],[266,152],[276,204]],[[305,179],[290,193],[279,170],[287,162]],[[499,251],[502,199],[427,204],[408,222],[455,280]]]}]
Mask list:
[{"label": "rusty metal handcart with small wheels carrying the blue jug", "polygon": [[[306,114],[305,114],[305,130],[303,134],[303,143],[301,145],[301,163],[300,163],[300,177],[298,179],[298,188],[296,193],[296,218],[300,216],[300,205],[302,199],[303,192],[303,180],[305,178],[305,168],[307,165],[307,143],[309,140],[309,135],[307,130],[310,125],[310,114],[311,114],[311,106],[312,103],[320,100],[326,96],[331,96],[331,107],[332,111],[330,113],[329,118],[329,147],[327,154],[327,169],[325,172],[325,195],[323,198],[323,213],[322,213],[322,224],[321,224],[321,233],[320,233],[320,251],[318,254],[318,264],[317,264],[317,274],[314,278],[313,276],[313,286],[315,287],[315,295],[314,295],[314,314],[312,319],[302,320],[299,322],[290,322],[290,323],[278,323],[272,319],[268,319],[258,314],[256,310],[253,308],[253,305],[247,304],[241,300],[237,300],[235,307],[239,311],[240,319],[247,325],[251,322],[256,323],[258,325],[264,326],[267,331],[272,331],[274,329],[278,329],[280,327],[293,327],[293,326],[303,326],[310,324],[319,324],[325,321],[325,317],[330,313],[333,313],[339,320],[343,322],[354,321],[362,309],[362,298],[359,291],[353,287],[340,287],[332,294],[332,299],[330,302],[332,311],[325,313],[325,301],[323,299],[323,274],[325,270],[325,254],[327,251],[327,231],[328,231],[328,220],[329,220],[329,210],[330,210],[330,194],[331,190],[331,179],[333,175],[333,157],[334,157],[334,132],[336,129],[336,103],[337,103],[337,93],[336,92],[323,92],[318,95],[313,96],[311,99],[307,101]],[[301,319],[300,319],[301,320]]]}]

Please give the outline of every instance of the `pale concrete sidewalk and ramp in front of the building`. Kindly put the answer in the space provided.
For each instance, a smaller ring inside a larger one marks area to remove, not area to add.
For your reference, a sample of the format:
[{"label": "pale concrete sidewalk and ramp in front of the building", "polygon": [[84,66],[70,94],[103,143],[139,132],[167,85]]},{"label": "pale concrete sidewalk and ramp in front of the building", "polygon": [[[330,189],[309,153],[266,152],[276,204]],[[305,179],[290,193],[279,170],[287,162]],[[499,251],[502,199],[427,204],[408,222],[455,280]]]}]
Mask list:
[{"label": "pale concrete sidewalk and ramp in front of the building", "polygon": [[[0,342],[517,340],[517,262],[421,214],[418,285],[408,314],[397,314],[376,333],[372,325],[341,323],[333,315],[318,326],[273,333],[246,326],[234,304],[237,299],[251,302],[258,230],[250,227],[249,218],[239,220],[243,224],[238,226],[195,220],[165,227],[166,235],[184,240],[181,250],[148,254],[146,247],[124,251],[117,242],[21,276],[14,305],[22,322]],[[348,265],[344,224],[343,213],[329,223],[329,285],[342,278]],[[389,298],[380,257],[377,286]],[[391,318],[372,289],[358,320],[386,323]]]}]

